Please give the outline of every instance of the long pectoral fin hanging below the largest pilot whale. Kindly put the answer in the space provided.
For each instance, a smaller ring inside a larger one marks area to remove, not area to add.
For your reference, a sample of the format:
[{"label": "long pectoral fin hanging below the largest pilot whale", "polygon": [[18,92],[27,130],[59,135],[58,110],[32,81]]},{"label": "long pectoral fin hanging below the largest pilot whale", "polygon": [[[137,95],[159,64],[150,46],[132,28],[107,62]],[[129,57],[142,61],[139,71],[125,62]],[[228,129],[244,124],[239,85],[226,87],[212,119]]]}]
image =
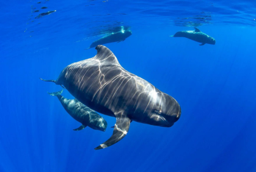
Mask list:
[{"label": "long pectoral fin hanging below the largest pilot whale", "polygon": [[127,134],[130,127],[130,118],[126,116],[116,116],[117,122],[115,123],[115,128],[112,136],[100,146],[95,148],[95,150],[107,148],[115,143],[119,142]]}]

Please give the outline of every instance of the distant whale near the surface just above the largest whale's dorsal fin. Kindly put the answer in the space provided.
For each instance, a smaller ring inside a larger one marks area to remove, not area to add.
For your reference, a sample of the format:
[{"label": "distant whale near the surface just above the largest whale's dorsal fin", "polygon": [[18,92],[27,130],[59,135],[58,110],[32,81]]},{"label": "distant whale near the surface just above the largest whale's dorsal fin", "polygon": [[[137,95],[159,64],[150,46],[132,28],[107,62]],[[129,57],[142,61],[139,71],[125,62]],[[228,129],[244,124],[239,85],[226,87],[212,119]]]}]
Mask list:
[{"label": "distant whale near the surface just above the largest whale's dorsal fin", "polygon": [[[119,32],[108,34],[97,41],[94,41],[92,45],[90,45],[89,48],[96,47],[97,45],[103,45],[106,43],[114,43],[114,42],[120,42],[124,41],[126,38],[131,36],[131,30],[121,30]],[[87,49],[89,49],[87,48]]]}]

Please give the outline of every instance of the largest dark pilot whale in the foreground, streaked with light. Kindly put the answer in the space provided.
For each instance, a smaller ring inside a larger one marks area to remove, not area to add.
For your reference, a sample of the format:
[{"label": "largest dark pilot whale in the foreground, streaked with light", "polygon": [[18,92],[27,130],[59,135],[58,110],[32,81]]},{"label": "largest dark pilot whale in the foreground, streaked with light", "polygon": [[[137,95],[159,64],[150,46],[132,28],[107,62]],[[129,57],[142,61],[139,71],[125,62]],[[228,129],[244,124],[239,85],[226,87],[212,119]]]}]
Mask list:
[{"label": "largest dark pilot whale in the foreground, streaked with light", "polygon": [[[131,121],[171,127],[181,115],[178,102],[149,82],[126,71],[108,48],[98,45],[97,55],[72,63],[55,82],[91,109],[114,116],[112,136],[95,149],[119,142]],[[47,81],[47,80],[46,80]]]}]

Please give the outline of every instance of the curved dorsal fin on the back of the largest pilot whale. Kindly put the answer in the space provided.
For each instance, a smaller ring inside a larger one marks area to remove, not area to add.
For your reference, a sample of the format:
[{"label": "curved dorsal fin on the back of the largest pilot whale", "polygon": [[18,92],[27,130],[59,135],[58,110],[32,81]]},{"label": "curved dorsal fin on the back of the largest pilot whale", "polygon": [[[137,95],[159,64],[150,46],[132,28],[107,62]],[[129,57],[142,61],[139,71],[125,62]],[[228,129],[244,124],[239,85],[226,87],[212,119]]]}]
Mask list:
[{"label": "curved dorsal fin on the back of the largest pilot whale", "polygon": [[106,48],[106,46],[97,45],[95,49],[97,49],[97,55],[94,56],[93,59],[100,60],[104,65],[109,64],[121,66],[117,57],[115,57],[115,54],[110,51],[110,49]]}]

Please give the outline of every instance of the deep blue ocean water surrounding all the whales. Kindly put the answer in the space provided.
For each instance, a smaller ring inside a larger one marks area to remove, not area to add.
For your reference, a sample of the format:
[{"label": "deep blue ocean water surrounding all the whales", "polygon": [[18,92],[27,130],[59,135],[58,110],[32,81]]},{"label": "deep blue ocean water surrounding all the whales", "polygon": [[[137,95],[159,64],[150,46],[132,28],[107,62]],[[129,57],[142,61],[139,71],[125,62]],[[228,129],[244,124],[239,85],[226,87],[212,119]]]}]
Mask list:
[{"label": "deep blue ocean water surrounding all the whales", "polygon": [[[256,171],[255,2],[39,2],[0,2],[0,171]],[[133,35],[105,46],[182,113],[172,127],[133,122],[119,143],[95,151],[115,118],[102,115],[105,132],[73,131],[80,123],[46,93],[62,88],[39,77],[57,79],[122,27]],[[194,27],[216,45],[169,37]]]}]

